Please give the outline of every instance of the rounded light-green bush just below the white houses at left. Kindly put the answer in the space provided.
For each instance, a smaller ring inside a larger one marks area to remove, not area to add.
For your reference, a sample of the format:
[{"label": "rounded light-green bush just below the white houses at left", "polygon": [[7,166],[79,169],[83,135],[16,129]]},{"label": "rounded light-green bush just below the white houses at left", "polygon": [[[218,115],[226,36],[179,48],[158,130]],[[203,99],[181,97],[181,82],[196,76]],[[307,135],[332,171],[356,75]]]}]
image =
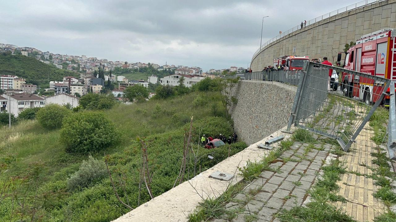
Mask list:
[{"label": "rounded light-green bush just below the white houses at left", "polygon": [[36,113],[38,122],[48,129],[60,128],[64,117],[70,115],[71,111],[58,104],[48,104]]}]

